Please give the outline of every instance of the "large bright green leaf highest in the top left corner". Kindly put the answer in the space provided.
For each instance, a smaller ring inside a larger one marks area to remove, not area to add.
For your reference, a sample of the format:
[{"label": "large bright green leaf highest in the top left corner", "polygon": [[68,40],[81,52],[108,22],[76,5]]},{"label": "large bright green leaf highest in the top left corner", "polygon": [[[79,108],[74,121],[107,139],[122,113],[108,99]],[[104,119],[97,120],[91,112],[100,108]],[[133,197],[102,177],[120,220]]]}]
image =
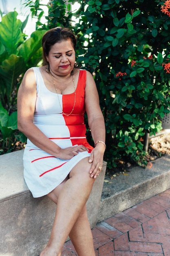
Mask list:
[{"label": "large bright green leaf highest in the top left corner", "polygon": [[15,54],[17,47],[23,43],[24,34],[22,34],[21,20],[17,19],[16,11],[9,12],[2,17],[0,22],[0,41],[10,54]]}]

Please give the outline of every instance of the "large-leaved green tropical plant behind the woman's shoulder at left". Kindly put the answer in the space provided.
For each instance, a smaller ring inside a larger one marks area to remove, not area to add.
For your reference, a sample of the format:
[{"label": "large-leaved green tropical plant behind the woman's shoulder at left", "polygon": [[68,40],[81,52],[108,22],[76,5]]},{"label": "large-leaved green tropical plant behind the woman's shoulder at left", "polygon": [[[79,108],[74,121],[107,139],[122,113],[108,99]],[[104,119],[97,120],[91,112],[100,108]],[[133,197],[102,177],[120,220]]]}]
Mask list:
[{"label": "large-leaved green tropical plant behind the woman's shoulder at left", "polygon": [[10,151],[15,139],[25,137],[17,130],[17,91],[24,72],[42,59],[41,40],[44,30],[36,30],[26,40],[24,22],[16,11],[0,22],[0,154]]}]

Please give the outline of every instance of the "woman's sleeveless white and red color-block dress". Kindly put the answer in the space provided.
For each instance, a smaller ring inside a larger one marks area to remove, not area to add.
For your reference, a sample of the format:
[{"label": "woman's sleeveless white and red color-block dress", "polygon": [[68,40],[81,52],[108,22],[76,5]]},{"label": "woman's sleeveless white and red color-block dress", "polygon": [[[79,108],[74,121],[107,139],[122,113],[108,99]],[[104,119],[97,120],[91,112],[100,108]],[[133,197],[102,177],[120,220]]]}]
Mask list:
[{"label": "woman's sleeveless white and red color-block dress", "polygon": [[80,144],[88,148],[88,152],[79,152],[71,159],[60,159],[41,150],[27,139],[23,156],[24,180],[33,197],[37,198],[55,189],[80,160],[90,156],[93,147],[86,140],[84,124],[86,70],[79,70],[75,107],[68,116],[62,114],[62,110],[68,114],[71,112],[74,93],[57,95],[50,92],[44,84],[40,69],[33,67],[33,71],[37,86],[34,124],[61,148]]}]

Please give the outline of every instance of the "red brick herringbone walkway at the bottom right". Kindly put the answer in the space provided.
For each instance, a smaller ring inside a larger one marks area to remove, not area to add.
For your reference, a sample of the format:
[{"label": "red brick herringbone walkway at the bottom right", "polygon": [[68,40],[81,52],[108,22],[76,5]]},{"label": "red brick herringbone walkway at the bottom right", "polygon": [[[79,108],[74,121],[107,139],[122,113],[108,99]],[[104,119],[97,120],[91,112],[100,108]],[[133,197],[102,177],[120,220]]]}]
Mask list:
[{"label": "red brick herringbone walkway at the bottom right", "polygon": [[[92,232],[96,256],[170,256],[170,189],[100,222]],[[75,255],[66,242],[62,256]]]}]

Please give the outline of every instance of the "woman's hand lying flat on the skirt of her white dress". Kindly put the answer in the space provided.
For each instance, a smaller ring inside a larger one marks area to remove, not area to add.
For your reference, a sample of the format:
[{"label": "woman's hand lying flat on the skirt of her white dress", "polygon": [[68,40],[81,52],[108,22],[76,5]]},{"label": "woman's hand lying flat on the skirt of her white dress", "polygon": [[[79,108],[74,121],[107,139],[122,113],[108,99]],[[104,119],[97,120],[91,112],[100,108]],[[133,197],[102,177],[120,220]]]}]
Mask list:
[{"label": "woman's hand lying flat on the skirt of her white dress", "polygon": [[79,152],[84,151],[88,151],[88,149],[83,145],[60,148],[59,153],[57,153],[57,157],[61,159],[71,159],[75,155],[78,155]]}]

